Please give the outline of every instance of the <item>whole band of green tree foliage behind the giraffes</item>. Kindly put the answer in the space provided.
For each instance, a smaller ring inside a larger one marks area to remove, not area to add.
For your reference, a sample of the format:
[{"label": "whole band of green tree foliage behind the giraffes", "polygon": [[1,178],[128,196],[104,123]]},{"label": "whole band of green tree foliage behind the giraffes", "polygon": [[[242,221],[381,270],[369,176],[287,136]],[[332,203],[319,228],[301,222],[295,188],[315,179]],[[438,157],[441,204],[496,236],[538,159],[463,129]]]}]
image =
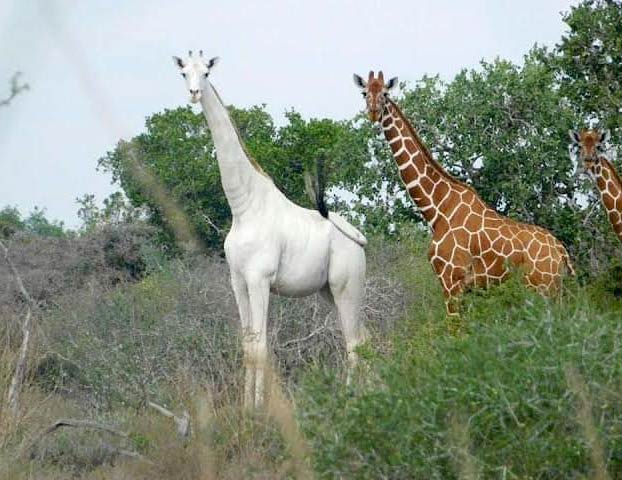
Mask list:
[{"label": "whole band of green tree foliage behind the giraffes", "polygon": [[[402,85],[397,98],[449,172],[501,213],[550,229],[583,273],[588,266],[605,268],[609,258],[603,252],[617,239],[604,215],[588,214],[599,210],[599,198],[591,182],[576,174],[567,131],[597,119],[612,129],[618,151],[621,11],[619,1],[583,2],[564,16],[569,30],[554,49],[535,46],[521,65],[483,61],[450,81],[425,76]],[[395,235],[421,221],[384,138],[366,119],[306,121],[290,111],[277,128],[263,106],[230,112],[250,153],[295,202],[310,206],[302,174],[324,155],[328,185],[335,187],[333,207],[361,221],[368,233]],[[156,113],[132,145],[205,243],[220,249],[230,214],[202,115],[189,108]],[[157,202],[132,178],[125,152],[108,152],[100,165],[133,206],[146,207],[150,220],[166,227]]]}]

